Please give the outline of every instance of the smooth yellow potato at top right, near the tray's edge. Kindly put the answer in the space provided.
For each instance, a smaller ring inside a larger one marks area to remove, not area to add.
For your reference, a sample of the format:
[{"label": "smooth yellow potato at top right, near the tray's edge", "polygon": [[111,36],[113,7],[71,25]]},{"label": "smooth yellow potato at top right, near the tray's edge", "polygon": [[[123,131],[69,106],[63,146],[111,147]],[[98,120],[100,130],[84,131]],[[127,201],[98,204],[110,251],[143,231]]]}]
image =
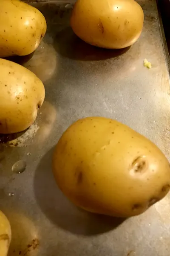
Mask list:
[{"label": "smooth yellow potato at top right, near the tray's edge", "polygon": [[134,0],[77,0],[71,15],[75,34],[94,46],[121,49],[139,38],[144,22]]}]

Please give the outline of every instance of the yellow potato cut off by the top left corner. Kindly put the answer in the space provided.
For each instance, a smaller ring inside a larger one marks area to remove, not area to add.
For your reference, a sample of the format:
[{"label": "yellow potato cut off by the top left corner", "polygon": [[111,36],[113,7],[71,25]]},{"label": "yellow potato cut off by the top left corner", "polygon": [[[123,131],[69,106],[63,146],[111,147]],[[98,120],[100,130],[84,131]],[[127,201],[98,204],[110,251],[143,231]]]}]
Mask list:
[{"label": "yellow potato cut off by the top left corner", "polygon": [[0,57],[34,52],[46,32],[46,21],[36,8],[20,0],[0,0]]}]

